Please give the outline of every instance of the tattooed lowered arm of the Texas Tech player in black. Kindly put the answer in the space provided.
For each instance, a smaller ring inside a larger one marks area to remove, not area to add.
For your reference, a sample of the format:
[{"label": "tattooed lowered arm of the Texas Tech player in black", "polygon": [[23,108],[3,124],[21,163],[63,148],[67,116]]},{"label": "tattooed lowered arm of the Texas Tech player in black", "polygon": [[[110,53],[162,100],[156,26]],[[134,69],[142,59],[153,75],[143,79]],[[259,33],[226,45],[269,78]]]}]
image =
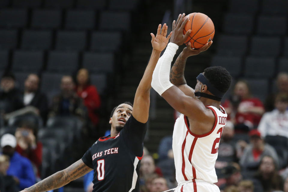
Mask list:
[{"label": "tattooed lowered arm of the Texas Tech player in black", "polygon": [[54,173],[53,175],[25,189],[24,191],[44,192],[52,189],[57,189],[70,183],[75,179],[78,179],[79,177],[82,177],[91,170],[92,169],[86,166],[80,159],[66,169]]}]

